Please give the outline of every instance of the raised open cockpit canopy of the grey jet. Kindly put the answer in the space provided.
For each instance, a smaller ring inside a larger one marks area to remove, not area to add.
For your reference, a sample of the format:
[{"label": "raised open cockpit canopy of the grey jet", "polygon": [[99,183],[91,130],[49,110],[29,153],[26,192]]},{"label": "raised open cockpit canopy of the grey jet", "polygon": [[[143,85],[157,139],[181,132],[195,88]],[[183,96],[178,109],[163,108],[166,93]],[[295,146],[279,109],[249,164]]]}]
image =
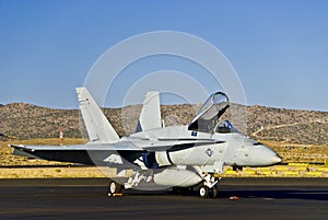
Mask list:
[{"label": "raised open cockpit canopy of the grey jet", "polygon": [[218,119],[229,108],[229,99],[223,92],[216,92],[204,102],[197,116],[189,124],[189,130],[214,132]]}]

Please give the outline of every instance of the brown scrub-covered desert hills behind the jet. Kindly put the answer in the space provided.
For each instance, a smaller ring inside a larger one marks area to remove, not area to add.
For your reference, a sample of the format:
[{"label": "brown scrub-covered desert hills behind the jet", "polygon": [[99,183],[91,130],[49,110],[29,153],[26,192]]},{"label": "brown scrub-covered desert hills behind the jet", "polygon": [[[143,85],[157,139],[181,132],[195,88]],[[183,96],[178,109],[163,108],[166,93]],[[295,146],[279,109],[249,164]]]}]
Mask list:
[{"label": "brown scrub-covered desert hills behind the jet", "polygon": [[[188,124],[200,105],[163,105],[165,125]],[[141,105],[104,108],[105,115],[119,136],[134,131]],[[285,141],[301,144],[328,144],[328,112],[281,109],[232,104],[222,119],[230,119],[244,134],[259,140]],[[0,105],[0,139],[86,137],[80,131],[78,109],[52,109],[26,103]],[[82,129],[83,130],[83,129]]]}]

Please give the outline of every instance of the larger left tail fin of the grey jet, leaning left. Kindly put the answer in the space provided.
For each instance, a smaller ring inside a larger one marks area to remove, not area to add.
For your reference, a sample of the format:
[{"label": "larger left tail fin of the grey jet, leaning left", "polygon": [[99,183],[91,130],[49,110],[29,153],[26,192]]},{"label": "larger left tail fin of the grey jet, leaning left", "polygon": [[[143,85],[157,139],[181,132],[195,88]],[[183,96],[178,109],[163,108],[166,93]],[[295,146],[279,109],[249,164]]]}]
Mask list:
[{"label": "larger left tail fin of the grey jet, leaning left", "polygon": [[90,141],[115,142],[119,139],[113,126],[86,88],[77,88],[80,109]]}]

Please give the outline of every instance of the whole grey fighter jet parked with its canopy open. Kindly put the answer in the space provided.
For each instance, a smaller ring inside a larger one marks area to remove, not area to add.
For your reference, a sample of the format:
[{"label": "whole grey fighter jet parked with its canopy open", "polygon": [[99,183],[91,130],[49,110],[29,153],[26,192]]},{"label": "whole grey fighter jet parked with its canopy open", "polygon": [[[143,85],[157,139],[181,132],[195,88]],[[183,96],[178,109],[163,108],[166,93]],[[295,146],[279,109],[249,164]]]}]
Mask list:
[{"label": "whole grey fighter jet parked with its canopy open", "polygon": [[[164,126],[159,92],[145,95],[137,131],[120,138],[86,88],[77,88],[89,135],[86,144],[17,146],[14,154],[50,161],[116,167],[108,196],[151,186],[188,188],[203,198],[218,196],[223,166],[281,163],[272,149],[246,137],[220,117],[230,107],[223,92],[209,96],[188,125]],[[127,172],[131,171],[131,172]]]}]

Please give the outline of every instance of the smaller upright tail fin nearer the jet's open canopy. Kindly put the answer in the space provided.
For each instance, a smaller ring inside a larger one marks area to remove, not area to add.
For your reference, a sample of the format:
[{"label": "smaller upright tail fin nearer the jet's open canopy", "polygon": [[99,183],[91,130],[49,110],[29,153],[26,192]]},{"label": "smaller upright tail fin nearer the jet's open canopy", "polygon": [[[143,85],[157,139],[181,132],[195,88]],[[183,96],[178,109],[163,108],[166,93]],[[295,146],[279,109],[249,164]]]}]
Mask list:
[{"label": "smaller upright tail fin nearer the jet's open canopy", "polygon": [[157,91],[148,92],[144,96],[137,131],[151,130],[161,127],[160,93]]}]

